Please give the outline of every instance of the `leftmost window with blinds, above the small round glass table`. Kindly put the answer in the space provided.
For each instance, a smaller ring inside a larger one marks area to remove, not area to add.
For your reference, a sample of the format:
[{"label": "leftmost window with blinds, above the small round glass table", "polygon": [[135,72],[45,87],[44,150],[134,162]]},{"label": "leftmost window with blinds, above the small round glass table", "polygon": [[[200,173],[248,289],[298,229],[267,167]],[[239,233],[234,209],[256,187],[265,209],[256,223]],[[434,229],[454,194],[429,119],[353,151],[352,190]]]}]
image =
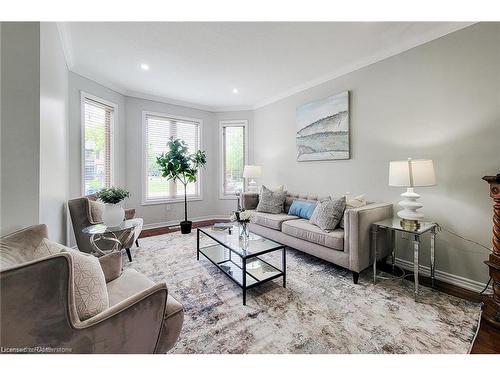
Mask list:
[{"label": "leftmost window with blinds, above the small round glass table", "polygon": [[116,106],[82,92],[82,181],[84,195],[113,183],[113,123]]}]

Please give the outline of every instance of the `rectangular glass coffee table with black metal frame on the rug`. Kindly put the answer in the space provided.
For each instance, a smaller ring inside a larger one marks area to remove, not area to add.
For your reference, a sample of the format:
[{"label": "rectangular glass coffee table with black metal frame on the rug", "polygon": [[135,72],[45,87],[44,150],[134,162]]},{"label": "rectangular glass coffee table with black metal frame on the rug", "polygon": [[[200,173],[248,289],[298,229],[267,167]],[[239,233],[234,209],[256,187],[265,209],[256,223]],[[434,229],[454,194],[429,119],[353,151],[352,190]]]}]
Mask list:
[{"label": "rectangular glass coffee table with black metal frame on the rug", "polygon": [[[209,237],[208,245],[200,246],[200,235]],[[262,259],[261,255],[281,251],[281,270]],[[243,305],[246,305],[247,290],[265,282],[283,277],[286,287],[285,245],[250,233],[248,240],[240,240],[237,226],[232,230],[218,231],[212,227],[198,228],[196,259],[203,254],[227,277],[243,289]]]}]

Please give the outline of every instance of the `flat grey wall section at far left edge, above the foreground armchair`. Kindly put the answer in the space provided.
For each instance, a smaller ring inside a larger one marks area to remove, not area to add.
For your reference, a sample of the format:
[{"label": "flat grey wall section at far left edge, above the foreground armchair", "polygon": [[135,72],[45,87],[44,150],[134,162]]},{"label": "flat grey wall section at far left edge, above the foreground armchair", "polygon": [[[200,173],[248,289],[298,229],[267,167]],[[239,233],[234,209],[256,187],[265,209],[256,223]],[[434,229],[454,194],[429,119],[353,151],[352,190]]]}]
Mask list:
[{"label": "flat grey wall section at far left edge, above the foreground armchair", "polygon": [[0,235],[37,224],[40,181],[40,24],[1,24]]}]

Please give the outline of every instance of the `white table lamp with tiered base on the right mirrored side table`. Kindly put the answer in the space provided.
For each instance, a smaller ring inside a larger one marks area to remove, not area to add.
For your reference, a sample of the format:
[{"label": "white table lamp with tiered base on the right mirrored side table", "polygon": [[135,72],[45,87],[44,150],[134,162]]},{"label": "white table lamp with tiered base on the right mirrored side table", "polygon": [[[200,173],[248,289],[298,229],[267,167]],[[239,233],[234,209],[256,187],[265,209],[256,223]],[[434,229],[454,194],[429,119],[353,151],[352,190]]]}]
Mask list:
[{"label": "white table lamp with tiered base on the right mirrored side table", "polygon": [[434,163],[432,160],[416,159],[401,161],[391,161],[389,163],[389,186],[405,186],[406,192],[401,194],[403,200],[399,205],[403,207],[398,212],[401,218],[401,226],[405,228],[418,229],[418,221],[424,218],[424,215],[417,212],[423,204],[417,202],[420,195],[415,193],[415,186],[433,186],[436,184],[434,175]]}]

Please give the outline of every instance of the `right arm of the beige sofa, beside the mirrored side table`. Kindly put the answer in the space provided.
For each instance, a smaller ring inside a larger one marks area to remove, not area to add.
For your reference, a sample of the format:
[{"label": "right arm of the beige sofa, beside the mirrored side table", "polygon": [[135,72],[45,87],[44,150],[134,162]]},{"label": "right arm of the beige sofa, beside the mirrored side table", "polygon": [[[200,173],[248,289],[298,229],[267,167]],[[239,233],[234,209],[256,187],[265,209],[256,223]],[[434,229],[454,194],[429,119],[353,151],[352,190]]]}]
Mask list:
[{"label": "right arm of the beige sofa, beside the mirrored side table", "polygon": [[[371,225],[379,220],[392,217],[391,203],[371,203],[363,207],[352,208],[346,211],[344,238],[345,246],[349,251],[349,269],[354,272],[361,272],[370,264],[373,259],[370,250],[370,229]],[[384,243],[385,236],[379,236],[378,241]],[[380,258],[386,256],[387,247],[379,246],[382,252],[378,253]]]}]

